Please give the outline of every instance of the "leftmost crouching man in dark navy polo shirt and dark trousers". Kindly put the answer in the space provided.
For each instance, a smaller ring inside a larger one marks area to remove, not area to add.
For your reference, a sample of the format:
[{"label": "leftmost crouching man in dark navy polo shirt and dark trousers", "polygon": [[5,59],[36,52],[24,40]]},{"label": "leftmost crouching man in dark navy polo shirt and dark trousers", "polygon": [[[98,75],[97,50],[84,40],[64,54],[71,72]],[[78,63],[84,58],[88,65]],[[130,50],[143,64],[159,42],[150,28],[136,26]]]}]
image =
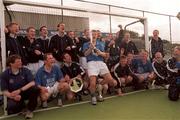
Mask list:
[{"label": "leftmost crouching man in dark navy polo shirt and dark trousers", "polygon": [[32,118],[37,106],[39,89],[35,86],[30,70],[22,67],[21,57],[12,55],[7,60],[8,68],[1,74],[1,90],[7,100],[8,114],[20,112],[28,100],[25,118]]}]

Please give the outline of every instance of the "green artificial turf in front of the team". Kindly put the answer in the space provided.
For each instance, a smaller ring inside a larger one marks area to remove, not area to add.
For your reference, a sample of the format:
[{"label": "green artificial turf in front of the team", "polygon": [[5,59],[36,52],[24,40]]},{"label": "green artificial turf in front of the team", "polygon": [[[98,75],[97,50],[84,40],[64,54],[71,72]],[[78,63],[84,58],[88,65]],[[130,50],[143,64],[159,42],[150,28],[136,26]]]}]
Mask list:
[{"label": "green artificial turf in front of the team", "polygon": [[[172,102],[165,90],[148,90],[107,99],[96,106],[85,103],[37,112],[32,120],[179,120],[180,101]],[[23,116],[5,120],[24,120]]]}]

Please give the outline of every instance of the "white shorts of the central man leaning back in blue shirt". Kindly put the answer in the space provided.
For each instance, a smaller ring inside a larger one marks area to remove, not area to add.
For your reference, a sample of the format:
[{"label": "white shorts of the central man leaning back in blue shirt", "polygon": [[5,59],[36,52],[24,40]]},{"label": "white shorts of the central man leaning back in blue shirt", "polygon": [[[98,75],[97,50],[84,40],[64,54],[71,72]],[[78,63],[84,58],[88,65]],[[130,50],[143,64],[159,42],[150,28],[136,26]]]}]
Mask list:
[{"label": "white shorts of the central man leaning back in blue shirt", "polygon": [[103,61],[90,61],[88,62],[88,75],[98,76],[109,73],[107,65]]}]

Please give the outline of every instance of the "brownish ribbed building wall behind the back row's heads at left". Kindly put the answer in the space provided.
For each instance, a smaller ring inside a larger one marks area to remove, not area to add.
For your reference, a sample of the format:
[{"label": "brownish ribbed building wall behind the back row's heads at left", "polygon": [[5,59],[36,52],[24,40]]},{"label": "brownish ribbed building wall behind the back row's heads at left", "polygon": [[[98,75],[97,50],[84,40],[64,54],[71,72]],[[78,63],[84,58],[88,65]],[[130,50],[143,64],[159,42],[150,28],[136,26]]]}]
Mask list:
[{"label": "brownish ribbed building wall behind the back row's heads at left", "polygon": [[[49,30],[56,30],[57,24],[62,21],[61,15],[16,11],[10,11],[10,13],[13,21],[17,22],[21,29],[26,29],[29,26],[34,26],[36,29],[39,29],[40,26],[46,25]],[[6,24],[10,22],[7,13],[5,13],[5,21]],[[83,31],[89,28],[89,18],[86,17],[63,16],[63,22],[65,23],[66,31]]]}]

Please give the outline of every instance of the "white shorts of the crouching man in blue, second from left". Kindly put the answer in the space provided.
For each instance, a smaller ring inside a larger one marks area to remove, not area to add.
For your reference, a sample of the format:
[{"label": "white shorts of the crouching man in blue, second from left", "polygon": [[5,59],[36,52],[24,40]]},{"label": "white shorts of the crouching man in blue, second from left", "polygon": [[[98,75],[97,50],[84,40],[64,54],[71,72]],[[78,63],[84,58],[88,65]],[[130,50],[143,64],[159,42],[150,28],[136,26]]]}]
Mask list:
[{"label": "white shorts of the crouching man in blue, second from left", "polygon": [[59,82],[56,82],[52,87],[46,87],[50,96],[56,97],[59,90],[58,90]]}]

